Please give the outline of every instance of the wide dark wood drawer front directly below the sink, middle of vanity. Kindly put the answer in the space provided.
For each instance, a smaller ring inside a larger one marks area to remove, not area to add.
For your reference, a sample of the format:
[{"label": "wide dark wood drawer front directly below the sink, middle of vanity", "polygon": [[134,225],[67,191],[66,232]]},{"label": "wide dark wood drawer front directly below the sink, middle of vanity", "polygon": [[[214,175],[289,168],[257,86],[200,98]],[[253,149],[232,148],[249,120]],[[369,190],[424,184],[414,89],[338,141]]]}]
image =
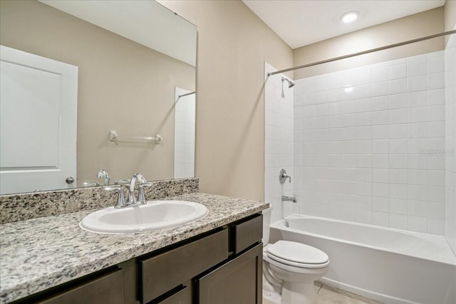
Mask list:
[{"label": "wide dark wood drawer front directly below the sink, middle of vanity", "polygon": [[228,258],[228,230],[139,262],[140,300],[147,303]]}]

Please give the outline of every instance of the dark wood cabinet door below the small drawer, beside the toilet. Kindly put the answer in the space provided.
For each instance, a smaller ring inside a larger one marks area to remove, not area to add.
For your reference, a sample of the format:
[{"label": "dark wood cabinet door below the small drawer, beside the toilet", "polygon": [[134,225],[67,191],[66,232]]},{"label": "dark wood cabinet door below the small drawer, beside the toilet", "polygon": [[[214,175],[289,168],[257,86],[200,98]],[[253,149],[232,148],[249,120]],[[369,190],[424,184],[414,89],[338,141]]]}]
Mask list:
[{"label": "dark wood cabinet door below the small drawer, beside the toilet", "polygon": [[262,249],[259,243],[199,278],[199,304],[261,304]]}]

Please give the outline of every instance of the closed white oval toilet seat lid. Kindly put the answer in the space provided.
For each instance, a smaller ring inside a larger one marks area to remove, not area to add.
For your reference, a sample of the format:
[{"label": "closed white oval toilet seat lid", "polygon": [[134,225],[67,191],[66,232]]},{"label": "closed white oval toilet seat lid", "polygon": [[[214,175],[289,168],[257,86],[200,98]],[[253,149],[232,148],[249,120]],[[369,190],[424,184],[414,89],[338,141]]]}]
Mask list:
[{"label": "closed white oval toilet seat lid", "polygon": [[302,264],[323,264],[328,262],[326,253],[304,243],[277,241],[267,248],[268,256]]}]

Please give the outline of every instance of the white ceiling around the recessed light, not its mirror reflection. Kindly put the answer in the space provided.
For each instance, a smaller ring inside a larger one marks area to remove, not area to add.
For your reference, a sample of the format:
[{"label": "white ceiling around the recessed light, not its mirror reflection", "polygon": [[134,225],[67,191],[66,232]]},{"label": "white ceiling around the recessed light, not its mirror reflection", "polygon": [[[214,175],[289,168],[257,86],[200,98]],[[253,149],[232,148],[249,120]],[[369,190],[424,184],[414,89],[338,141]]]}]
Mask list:
[{"label": "white ceiling around the recessed light, not its mirror reflection", "polygon": [[[435,9],[445,0],[242,0],[291,48],[358,31],[394,19]],[[347,11],[361,14],[342,23]]]}]

